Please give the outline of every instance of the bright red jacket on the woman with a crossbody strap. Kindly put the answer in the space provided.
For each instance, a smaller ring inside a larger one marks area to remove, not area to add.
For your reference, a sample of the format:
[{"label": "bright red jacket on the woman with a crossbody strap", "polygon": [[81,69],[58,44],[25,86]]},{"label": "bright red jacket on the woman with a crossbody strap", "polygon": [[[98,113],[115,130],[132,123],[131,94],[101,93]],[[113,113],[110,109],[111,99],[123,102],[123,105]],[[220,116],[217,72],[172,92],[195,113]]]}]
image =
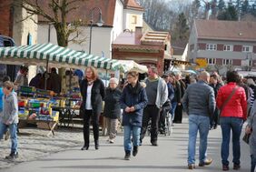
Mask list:
[{"label": "bright red jacket on the woman with a crossbody strap", "polygon": [[[220,109],[222,104],[231,95],[232,89],[237,86],[236,83],[230,82],[222,86],[217,94],[217,106]],[[247,101],[244,89],[239,86],[231,97],[226,106],[223,107],[221,116],[240,117],[246,120],[247,117]]]}]

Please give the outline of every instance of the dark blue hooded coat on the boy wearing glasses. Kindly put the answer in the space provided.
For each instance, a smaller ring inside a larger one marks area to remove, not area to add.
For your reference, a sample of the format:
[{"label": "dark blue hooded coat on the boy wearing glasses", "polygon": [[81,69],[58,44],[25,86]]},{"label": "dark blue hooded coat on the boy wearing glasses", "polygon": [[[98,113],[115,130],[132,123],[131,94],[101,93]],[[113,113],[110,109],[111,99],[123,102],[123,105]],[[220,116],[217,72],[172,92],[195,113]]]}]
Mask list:
[{"label": "dark blue hooded coat on the boy wearing glasses", "polygon": [[[120,102],[123,108],[123,126],[142,126],[143,108],[148,102],[145,88],[139,82],[134,87],[131,84],[124,86]],[[125,112],[127,106],[134,106],[135,111]]]}]

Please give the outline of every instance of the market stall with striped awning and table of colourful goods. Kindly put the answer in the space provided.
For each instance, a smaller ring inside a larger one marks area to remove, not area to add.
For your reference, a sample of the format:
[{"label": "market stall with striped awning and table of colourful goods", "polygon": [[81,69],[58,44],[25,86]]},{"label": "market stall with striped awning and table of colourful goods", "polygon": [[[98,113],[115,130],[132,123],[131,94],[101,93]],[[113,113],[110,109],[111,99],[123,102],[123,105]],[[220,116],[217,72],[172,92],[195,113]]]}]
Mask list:
[{"label": "market stall with striped awning and table of colourful goods", "polygon": [[[95,68],[102,68],[106,72],[110,70],[122,72],[136,70],[143,73],[147,71],[146,66],[138,65],[133,61],[120,62],[119,60],[93,56],[53,44],[0,47],[0,64],[46,66],[46,70],[48,66],[78,69],[94,66]],[[70,81],[70,83],[72,82]],[[81,101],[79,88],[77,87],[70,87],[69,93],[58,97],[51,95],[50,91],[38,90],[34,87],[21,87],[18,94],[20,118],[44,121],[52,132],[59,121],[64,126],[69,126],[72,123],[74,111],[79,109],[79,102]],[[65,117],[68,118],[67,123],[64,120]]]}]

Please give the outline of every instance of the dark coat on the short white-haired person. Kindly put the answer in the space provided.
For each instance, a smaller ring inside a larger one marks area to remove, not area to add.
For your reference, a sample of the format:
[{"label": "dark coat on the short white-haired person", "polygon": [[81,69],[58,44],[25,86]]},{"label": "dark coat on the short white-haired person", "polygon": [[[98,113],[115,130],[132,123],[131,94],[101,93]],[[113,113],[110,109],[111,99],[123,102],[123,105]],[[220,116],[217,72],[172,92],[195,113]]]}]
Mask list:
[{"label": "dark coat on the short white-haired person", "polygon": [[120,89],[115,88],[111,89],[110,87],[106,88],[105,97],[104,97],[104,110],[103,116],[117,119],[121,115],[121,105],[120,98],[122,92]]}]

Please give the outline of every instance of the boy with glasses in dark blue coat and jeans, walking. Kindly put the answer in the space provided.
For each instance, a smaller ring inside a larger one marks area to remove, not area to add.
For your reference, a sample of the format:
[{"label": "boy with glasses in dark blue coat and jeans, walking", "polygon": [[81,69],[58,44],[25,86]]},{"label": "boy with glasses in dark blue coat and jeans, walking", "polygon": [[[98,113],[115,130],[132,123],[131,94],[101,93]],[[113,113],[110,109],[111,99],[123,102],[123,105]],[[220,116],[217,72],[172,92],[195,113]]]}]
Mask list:
[{"label": "boy with glasses in dark blue coat and jeans, walking", "polygon": [[121,106],[123,108],[123,146],[125,160],[129,160],[132,151],[131,136],[133,136],[133,157],[138,153],[140,133],[143,123],[143,108],[147,105],[145,88],[138,82],[139,74],[129,72],[128,84],[123,87]]}]

